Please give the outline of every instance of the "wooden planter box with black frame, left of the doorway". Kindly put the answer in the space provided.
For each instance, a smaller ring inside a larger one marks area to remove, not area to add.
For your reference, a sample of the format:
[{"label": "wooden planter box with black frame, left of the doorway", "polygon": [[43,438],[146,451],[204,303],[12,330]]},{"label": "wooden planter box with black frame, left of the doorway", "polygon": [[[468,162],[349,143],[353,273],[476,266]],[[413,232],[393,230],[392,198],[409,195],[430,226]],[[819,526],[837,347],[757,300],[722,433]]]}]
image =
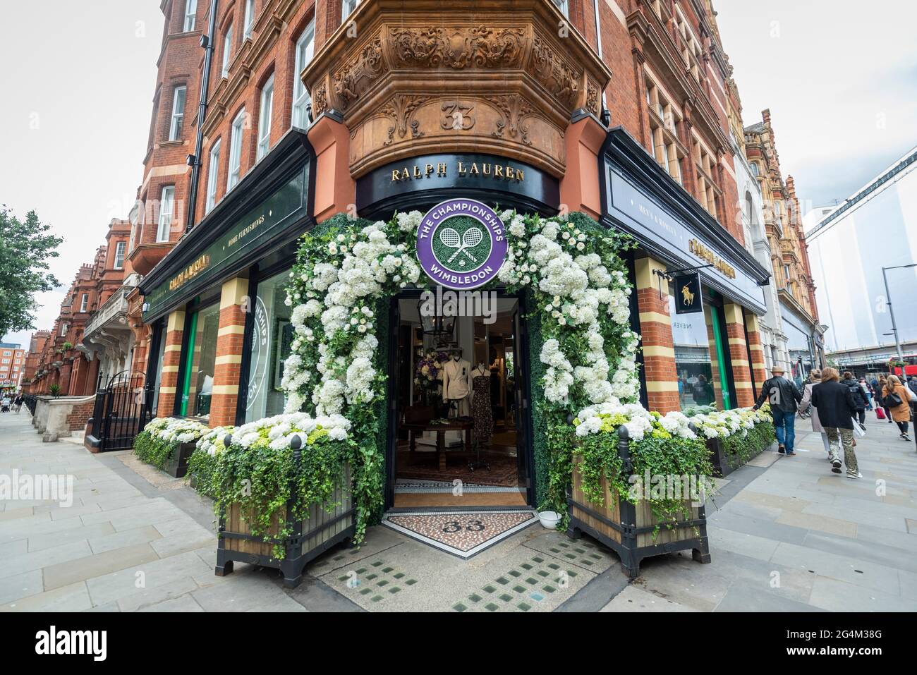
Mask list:
[{"label": "wooden planter box with black frame, left of the doorway", "polygon": [[[280,515],[275,517],[267,537],[255,537],[251,534],[249,524],[241,517],[237,504],[230,504],[220,515],[219,538],[216,548],[216,569],[218,577],[225,576],[233,570],[233,562],[248,562],[274,570],[281,570],[283,585],[295,588],[303,581],[305,566],[320,554],[342,541],[352,540],[356,527],[352,495],[349,490],[350,470],[344,474],[344,485],[347,490],[338,488],[333,501],[339,505],[333,511],[326,511],[314,504],[309,509],[308,517],[302,521],[287,521],[293,535],[284,540],[276,537],[279,524],[286,520],[286,515],[293,512],[291,501]],[[275,544],[280,543],[285,551],[283,559],[271,557]]]}]

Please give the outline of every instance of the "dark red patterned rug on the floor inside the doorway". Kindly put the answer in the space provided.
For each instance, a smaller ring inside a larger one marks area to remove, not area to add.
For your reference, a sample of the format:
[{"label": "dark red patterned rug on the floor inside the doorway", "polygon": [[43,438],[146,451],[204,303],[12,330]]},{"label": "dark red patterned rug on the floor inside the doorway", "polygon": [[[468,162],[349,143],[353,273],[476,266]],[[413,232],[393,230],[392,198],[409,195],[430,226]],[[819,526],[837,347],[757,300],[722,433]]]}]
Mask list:
[{"label": "dark red patterned rug on the floor inside the doorway", "polygon": [[481,467],[470,470],[470,459],[477,459],[475,453],[462,450],[447,450],[446,470],[440,471],[437,464],[436,452],[415,452],[414,463],[411,463],[411,453],[408,450],[398,451],[398,478],[409,478],[417,481],[453,481],[458,480],[476,485],[500,485],[503,487],[516,487],[519,484],[518,466],[515,457],[509,457],[502,452],[482,452],[481,458],[486,459],[491,469]]}]

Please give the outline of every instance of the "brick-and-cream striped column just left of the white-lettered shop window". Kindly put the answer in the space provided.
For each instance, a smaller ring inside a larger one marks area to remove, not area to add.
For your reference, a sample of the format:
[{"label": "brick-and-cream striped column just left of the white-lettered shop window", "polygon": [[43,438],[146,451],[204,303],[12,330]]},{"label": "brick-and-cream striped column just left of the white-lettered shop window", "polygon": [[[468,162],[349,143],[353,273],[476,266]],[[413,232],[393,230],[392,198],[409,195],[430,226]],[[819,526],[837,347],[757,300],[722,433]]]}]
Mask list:
[{"label": "brick-and-cream striped column just left of the white-lettered shop window", "polygon": [[238,382],[242,375],[242,342],[245,309],[249,306],[249,280],[236,277],[223,283],[220,293],[220,328],[216,334],[214,394],[210,401],[210,426],[236,424]]}]

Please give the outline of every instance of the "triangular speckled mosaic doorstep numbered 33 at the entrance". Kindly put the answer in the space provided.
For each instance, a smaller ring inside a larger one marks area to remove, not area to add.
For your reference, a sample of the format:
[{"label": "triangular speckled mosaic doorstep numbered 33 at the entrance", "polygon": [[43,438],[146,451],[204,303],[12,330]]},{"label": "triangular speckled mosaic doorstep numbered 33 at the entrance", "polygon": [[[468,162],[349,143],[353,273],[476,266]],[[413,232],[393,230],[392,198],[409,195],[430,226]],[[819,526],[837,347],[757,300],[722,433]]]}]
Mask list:
[{"label": "triangular speckled mosaic doorstep numbered 33 at the entrance", "polygon": [[531,510],[438,511],[386,515],[382,525],[467,560],[537,521]]}]

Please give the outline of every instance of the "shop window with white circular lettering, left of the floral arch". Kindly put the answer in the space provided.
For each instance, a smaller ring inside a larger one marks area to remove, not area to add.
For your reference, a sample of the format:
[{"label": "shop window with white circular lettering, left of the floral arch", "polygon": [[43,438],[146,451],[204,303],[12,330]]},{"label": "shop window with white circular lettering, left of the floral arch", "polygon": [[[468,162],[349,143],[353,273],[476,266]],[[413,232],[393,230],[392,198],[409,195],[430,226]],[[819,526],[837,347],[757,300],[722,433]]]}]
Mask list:
[{"label": "shop window with white circular lettering, left of the floral arch", "polygon": [[292,314],[284,300],[290,272],[258,283],[255,298],[254,330],[249,360],[249,386],[246,395],[245,421],[280,415],[286,399],[283,396],[283,362],[293,345]]}]

